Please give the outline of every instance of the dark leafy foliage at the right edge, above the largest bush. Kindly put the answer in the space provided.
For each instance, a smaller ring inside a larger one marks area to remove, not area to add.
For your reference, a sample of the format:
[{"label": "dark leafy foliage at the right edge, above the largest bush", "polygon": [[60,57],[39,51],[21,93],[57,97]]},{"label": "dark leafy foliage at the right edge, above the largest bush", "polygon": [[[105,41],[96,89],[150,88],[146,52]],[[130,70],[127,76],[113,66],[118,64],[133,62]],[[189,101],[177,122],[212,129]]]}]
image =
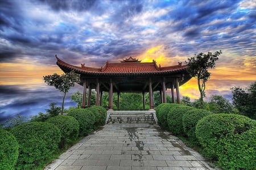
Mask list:
[{"label": "dark leafy foliage at the right edge, above the largest bush", "polygon": [[247,88],[232,87],[233,104],[244,116],[256,120],[256,82]]}]

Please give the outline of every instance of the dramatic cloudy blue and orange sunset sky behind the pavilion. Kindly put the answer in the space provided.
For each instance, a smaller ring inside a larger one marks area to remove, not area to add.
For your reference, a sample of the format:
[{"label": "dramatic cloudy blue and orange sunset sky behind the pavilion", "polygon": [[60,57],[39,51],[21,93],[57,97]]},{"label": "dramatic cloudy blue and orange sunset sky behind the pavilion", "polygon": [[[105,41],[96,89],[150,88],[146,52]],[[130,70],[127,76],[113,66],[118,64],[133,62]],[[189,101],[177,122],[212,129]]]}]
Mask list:
[{"label": "dramatic cloudy blue and orange sunset sky behind the pavilion", "polygon": [[[256,0],[3,1],[0,0],[0,122],[44,112],[62,95],[43,76],[63,74],[55,54],[72,65],[101,67],[134,56],[176,65],[222,50],[210,69],[205,100],[256,80]],[[65,107],[75,106],[70,96]],[[198,99],[196,80],[180,87]]]}]

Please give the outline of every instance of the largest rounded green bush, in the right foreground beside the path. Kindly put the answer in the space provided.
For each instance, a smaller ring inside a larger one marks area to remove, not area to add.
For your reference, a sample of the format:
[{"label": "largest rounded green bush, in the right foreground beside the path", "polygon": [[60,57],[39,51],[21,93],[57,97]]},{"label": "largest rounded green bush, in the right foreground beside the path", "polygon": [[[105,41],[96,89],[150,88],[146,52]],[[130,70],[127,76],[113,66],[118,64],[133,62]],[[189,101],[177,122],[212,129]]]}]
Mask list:
[{"label": "largest rounded green bush, in the right foreground beside the path", "polygon": [[196,125],[203,154],[223,169],[254,169],[256,121],[238,114],[212,114]]}]

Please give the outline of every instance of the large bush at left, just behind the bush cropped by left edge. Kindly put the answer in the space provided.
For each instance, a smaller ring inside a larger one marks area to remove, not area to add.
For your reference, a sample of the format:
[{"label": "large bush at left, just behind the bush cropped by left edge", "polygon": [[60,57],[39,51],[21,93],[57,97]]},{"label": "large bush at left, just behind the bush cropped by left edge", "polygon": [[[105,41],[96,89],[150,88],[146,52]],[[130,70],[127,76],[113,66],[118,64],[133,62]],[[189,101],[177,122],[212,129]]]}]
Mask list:
[{"label": "large bush at left, just behind the bush cropped by left edge", "polygon": [[11,129],[19,143],[17,169],[33,169],[55,152],[60,130],[48,122],[30,122]]}]

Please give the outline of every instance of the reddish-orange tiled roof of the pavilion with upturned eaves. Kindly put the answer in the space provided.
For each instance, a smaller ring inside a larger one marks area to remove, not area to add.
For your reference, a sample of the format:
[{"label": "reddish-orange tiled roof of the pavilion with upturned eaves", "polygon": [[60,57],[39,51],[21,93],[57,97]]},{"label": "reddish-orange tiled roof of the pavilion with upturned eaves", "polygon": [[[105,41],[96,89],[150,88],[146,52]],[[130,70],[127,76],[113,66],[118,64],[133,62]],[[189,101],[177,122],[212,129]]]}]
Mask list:
[{"label": "reddish-orange tiled roof of the pavilion with upturned eaves", "polygon": [[156,62],[120,62],[120,63],[110,63],[106,62],[104,67],[94,68],[86,67],[84,64],[79,66],[73,66],[59,59],[57,56],[57,65],[64,71],[75,70],[80,74],[101,74],[101,75],[114,75],[114,74],[162,74],[179,72],[187,69],[187,65],[175,65],[160,67],[156,65]]}]

